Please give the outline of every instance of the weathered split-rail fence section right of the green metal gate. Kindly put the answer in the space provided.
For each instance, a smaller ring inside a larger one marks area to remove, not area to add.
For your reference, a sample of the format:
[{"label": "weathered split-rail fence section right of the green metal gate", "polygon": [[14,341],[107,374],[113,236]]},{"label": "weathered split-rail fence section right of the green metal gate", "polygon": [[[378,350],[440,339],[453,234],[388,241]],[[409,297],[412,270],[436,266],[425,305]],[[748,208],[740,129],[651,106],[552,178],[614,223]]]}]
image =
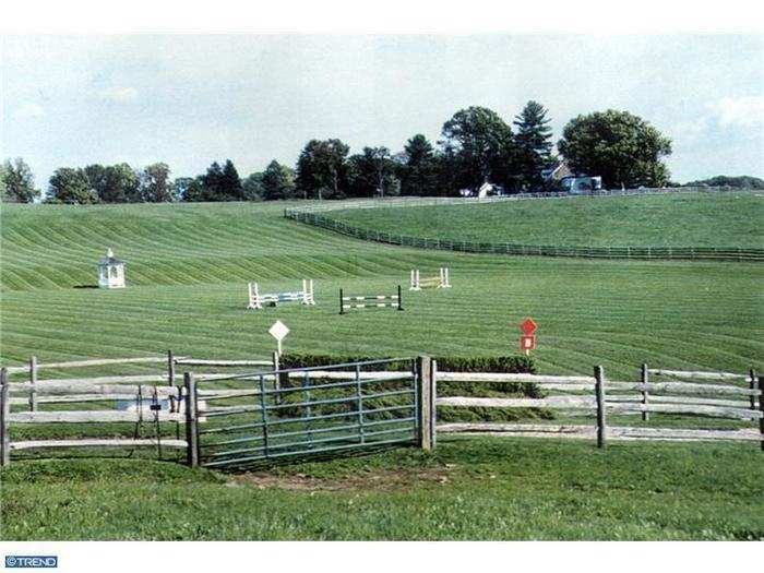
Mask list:
[{"label": "weathered split-rail fence section right of the green metal gate", "polygon": [[[596,415],[597,422],[587,426],[554,426],[523,423],[445,423],[439,425],[438,431],[445,433],[468,433],[490,435],[548,437],[570,435],[575,438],[596,438],[598,447],[604,447],[608,439],[617,440],[759,440],[764,451],[764,384],[762,378],[754,381],[755,371],[749,374],[735,372],[697,372],[667,369],[649,369],[643,365],[641,382],[610,382],[605,379],[601,367],[595,367],[594,380],[588,377],[537,377],[535,374],[480,374],[459,373],[449,375],[439,373],[440,382],[453,381],[514,381],[536,383],[547,391],[593,392],[587,395],[550,395],[540,398],[517,397],[467,397],[449,396],[435,398],[440,406],[488,407],[488,408],[548,408],[569,410],[569,415]],[[677,380],[650,381],[650,377],[670,377]],[[550,382],[549,380],[553,381]],[[684,382],[685,380],[703,382]],[[748,381],[748,387],[735,385]],[[714,383],[711,383],[714,382]],[[718,383],[727,382],[727,383]],[[606,394],[606,389],[609,392]],[[640,394],[623,392],[637,391]],[[620,392],[620,394],[619,394]],[[665,394],[683,394],[681,396]],[[744,399],[719,399],[717,395],[748,396]],[[712,397],[709,397],[712,396]],[[759,407],[755,407],[755,402]],[[582,411],[583,410],[583,411]],[[724,418],[733,420],[759,420],[759,430],[707,430],[677,428],[623,428],[608,427],[607,414],[642,415],[649,419],[649,413],[677,414]]]}]

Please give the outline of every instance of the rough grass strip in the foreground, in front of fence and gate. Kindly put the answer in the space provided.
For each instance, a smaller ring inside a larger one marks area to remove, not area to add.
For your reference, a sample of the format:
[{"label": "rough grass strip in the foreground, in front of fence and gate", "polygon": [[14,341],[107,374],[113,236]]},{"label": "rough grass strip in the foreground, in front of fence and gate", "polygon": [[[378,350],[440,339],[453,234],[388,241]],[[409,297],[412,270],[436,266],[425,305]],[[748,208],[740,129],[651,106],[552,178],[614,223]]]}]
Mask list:
[{"label": "rough grass strip in the foreground, in front of fence and gate", "polygon": [[256,474],[94,459],[1,477],[5,540],[764,539],[753,444],[450,439]]}]

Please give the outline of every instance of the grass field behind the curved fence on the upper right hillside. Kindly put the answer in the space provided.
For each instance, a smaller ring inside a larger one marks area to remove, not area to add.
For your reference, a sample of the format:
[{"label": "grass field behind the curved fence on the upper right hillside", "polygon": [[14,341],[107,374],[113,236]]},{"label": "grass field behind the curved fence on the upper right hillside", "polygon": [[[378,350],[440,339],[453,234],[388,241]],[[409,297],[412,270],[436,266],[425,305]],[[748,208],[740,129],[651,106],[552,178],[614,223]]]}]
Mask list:
[{"label": "grass field behind the curved fence on the upper right hillside", "polygon": [[564,247],[764,247],[764,193],[682,193],[357,208],[331,215],[385,232]]}]

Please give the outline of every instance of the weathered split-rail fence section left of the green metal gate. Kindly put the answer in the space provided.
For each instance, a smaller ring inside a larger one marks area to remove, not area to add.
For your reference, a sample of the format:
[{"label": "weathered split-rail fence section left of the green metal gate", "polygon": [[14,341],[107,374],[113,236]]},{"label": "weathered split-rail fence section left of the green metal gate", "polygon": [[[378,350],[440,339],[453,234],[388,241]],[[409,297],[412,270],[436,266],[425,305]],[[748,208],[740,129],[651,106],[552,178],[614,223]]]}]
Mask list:
[{"label": "weathered split-rail fence section left of the green metal gate", "polygon": [[[87,369],[93,367],[119,367],[133,365],[163,365],[166,371],[155,374],[121,374],[77,378],[41,378],[40,371]],[[201,360],[166,356],[139,358],[106,358],[67,362],[40,362],[29,358],[26,366],[0,369],[0,465],[8,465],[11,453],[24,450],[63,447],[142,447],[154,446],[162,456],[162,449],[188,449],[187,439],[180,438],[179,426],[187,422],[189,396],[183,392],[179,368],[229,369],[278,367],[278,356],[271,360]],[[24,375],[25,381],[12,378]],[[226,378],[225,372],[199,373],[199,380]],[[208,390],[204,399],[220,395],[236,395],[236,391]],[[49,406],[51,408],[49,408]],[[72,406],[77,409],[69,409]],[[13,440],[11,427],[15,425],[52,423],[115,423],[154,425],[154,438],[76,438]],[[165,422],[175,422],[175,435],[162,435]]]}]

